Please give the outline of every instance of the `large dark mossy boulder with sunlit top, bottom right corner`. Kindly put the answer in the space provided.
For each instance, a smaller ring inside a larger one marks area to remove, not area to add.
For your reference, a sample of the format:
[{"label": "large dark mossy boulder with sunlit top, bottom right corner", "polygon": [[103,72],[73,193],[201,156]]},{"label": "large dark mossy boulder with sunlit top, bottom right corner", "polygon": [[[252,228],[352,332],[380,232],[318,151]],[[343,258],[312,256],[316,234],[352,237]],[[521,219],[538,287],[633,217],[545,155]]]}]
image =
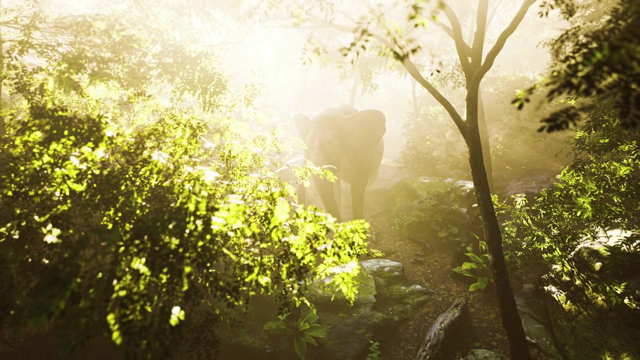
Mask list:
[{"label": "large dark mossy boulder with sunlit top, bottom right corner", "polygon": [[[640,359],[639,251],[638,234],[609,231],[585,238],[564,269],[545,277],[543,301],[564,359]],[[623,283],[619,295],[612,286]]]}]

